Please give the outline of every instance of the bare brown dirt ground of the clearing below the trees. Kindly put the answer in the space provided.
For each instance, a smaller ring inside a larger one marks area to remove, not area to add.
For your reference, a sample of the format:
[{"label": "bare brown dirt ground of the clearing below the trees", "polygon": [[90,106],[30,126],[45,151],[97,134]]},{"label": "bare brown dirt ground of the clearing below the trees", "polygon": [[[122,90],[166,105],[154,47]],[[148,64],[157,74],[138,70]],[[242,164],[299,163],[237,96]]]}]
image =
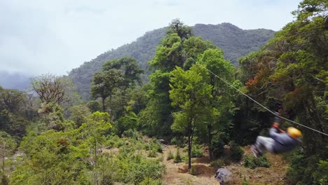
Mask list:
[{"label": "bare brown dirt ground of the clearing below the trees", "polygon": [[[243,148],[245,155],[252,155],[250,147]],[[219,184],[214,179],[214,173],[217,169],[210,167],[210,161],[207,155],[203,158],[193,158],[192,166],[196,167],[198,175],[188,173],[188,165],[185,162],[174,163],[173,160],[167,160],[169,152],[176,153],[175,146],[163,146],[163,163],[166,165],[166,174],[163,176],[164,184]],[[186,153],[180,149],[181,156],[186,156]],[[270,161],[270,167],[257,167],[254,170],[243,167],[243,163],[233,163],[225,167],[233,173],[233,180],[228,184],[242,184],[242,179],[246,179],[250,184],[284,184],[283,179],[287,170],[285,163],[280,156],[266,153],[266,157]]]}]

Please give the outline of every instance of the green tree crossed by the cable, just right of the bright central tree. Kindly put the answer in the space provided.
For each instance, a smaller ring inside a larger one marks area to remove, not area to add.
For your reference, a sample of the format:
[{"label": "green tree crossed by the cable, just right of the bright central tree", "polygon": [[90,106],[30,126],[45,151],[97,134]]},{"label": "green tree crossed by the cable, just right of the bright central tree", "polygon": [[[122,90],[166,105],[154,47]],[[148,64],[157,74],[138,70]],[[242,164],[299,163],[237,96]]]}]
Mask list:
[{"label": "green tree crossed by the cable, just right of the bright central tree", "polygon": [[[235,91],[228,87],[224,82],[237,83],[233,79],[234,67],[231,62],[224,60],[223,52],[219,49],[208,49],[200,55],[199,63],[203,64],[206,69],[210,70],[208,84],[212,85],[212,101],[210,102],[210,111],[207,112],[204,120],[206,126],[207,146],[209,149],[209,157],[213,158],[212,138],[218,132],[223,132],[231,123]],[[218,77],[219,76],[219,77]],[[221,78],[221,79],[220,79]],[[222,81],[222,79],[224,81]]]}]

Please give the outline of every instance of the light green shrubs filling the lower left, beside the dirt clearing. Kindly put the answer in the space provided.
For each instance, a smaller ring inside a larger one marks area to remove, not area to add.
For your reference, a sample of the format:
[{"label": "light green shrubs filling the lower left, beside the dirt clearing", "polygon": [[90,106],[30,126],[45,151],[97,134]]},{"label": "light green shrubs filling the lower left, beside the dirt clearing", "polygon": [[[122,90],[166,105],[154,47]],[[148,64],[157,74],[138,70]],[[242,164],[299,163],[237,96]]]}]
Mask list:
[{"label": "light green shrubs filling the lower left, beside the dirt clearing", "polygon": [[[137,150],[144,141],[107,135],[108,113],[95,112],[80,128],[41,135],[30,132],[21,142],[25,156],[13,163],[12,184],[161,184],[165,166]],[[153,144],[153,151],[157,152]],[[118,147],[119,153],[100,151],[100,146]]]}]

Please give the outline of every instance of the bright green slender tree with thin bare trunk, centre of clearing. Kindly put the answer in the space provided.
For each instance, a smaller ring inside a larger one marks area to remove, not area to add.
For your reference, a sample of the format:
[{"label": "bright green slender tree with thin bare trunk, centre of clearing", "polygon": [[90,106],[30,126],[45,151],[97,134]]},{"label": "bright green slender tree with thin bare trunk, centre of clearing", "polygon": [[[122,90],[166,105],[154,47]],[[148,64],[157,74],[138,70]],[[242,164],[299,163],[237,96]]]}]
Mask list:
[{"label": "bright green slender tree with thin bare trunk, centre of clearing", "polygon": [[170,78],[170,99],[179,108],[173,113],[172,130],[188,137],[188,168],[191,168],[191,148],[195,130],[203,123],[212,101],[212,85],[208,84],[208,72],[196,64],[188,71],[177,67]]}]

